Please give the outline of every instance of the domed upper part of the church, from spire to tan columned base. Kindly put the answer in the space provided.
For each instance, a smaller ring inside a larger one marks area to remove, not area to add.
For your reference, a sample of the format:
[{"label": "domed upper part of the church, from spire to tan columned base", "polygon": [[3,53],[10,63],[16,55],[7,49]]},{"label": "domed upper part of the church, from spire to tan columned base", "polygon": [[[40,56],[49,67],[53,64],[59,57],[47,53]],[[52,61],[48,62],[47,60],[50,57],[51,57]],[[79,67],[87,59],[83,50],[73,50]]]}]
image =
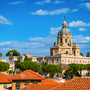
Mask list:
[{"label": "domed upper part of the church, from spire to tan columned base", "polygon": [[51,56],[57,54],[80,56],[80,47],[76,46],[76,43],[72,43],[72,34],[67,28],[65,19],[62,23],[62,29],[58,32],[57,43],[54,43],[54,46],[50,49],[50,53]]}]

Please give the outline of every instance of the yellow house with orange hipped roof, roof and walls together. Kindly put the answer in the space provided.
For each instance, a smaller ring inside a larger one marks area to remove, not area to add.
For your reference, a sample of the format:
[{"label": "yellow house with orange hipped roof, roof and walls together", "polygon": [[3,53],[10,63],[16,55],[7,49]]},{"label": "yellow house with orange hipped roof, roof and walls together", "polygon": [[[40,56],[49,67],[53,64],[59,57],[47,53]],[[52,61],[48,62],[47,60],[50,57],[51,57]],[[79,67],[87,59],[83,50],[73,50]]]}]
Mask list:
[{"label": "yellow house with orange hipped roof, roof and walls together", "polygon": [[30,84],[40,84],[44,77],[32,70],[25,70],[13,76],[10,80],[12,80],[12,90],[19,90]]}]

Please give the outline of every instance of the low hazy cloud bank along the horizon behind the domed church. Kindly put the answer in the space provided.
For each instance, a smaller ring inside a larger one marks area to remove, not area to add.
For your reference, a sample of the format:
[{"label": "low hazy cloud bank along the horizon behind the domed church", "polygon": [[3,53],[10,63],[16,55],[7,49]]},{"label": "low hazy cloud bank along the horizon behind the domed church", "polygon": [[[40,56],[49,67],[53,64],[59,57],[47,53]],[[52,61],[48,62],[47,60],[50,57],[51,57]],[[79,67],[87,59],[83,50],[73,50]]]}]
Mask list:
[{"label": "low hazy cloud bank along the horizon behind the domed church", "polygon": [[[59,28],[59,27],[58,27]],[[57,41],[54,37],[30,37],[27,42],[24,41],[6,41],[0,43],[0,51],[5,54],[9,50],[17,50],[23,54],[32,54],[36,56],[50,55],[50,47]],[[73,36],[73,42],[76,42],[81,49],[90,50],[90,36]],[[83,51],[85,51],[83,50]]]}]

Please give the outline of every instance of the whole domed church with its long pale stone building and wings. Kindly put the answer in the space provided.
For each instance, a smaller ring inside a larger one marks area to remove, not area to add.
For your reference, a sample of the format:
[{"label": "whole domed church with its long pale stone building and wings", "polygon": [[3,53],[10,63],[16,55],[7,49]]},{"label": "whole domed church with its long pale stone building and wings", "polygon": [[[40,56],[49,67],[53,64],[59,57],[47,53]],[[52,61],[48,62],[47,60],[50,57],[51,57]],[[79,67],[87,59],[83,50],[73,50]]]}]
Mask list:
[{"label": "whole domed church with its long pale stone building and wings", "polygon": [[[76,46],[76,43],[72,43],[71,31],[67,28],[67,23],[64,19],[62,23],[62,29],[58,32],[57,42],[54,42],[54,46],[50,49],[50,56],[32,56],[32,54],[24,54],[23,56],[11,56],[9,57],[10,69],[16,70],[16,62],[20,59],[24,61],[25,55],[33,62],[39,63],[43,66],[45,62],[48,64],[56,64],[63,68],[63,72],[68,68],[68,64],[90,64],[90,57],[84,57],[80,55],[80,47]],[[86,72],[82,72],[85,75]],[[60,76],[60,75],[59,75]]]}]

